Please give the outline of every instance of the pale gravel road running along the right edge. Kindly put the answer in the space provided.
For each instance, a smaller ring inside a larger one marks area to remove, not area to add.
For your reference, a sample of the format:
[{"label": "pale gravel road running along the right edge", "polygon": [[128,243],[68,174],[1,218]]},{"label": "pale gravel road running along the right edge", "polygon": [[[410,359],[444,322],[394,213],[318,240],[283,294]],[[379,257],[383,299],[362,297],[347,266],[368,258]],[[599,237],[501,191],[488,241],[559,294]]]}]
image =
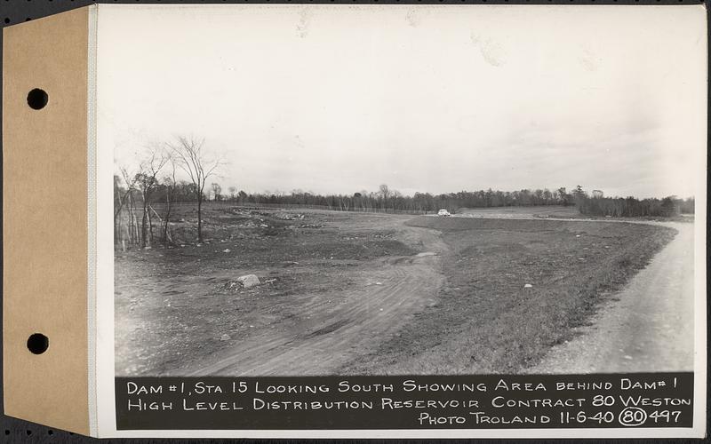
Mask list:
[{"label": "pale gravel road running along the right edge", "polygon": [[667,223],[675,239],[579,337],[554,347],[529,373],[693,369],[693,224]]}]

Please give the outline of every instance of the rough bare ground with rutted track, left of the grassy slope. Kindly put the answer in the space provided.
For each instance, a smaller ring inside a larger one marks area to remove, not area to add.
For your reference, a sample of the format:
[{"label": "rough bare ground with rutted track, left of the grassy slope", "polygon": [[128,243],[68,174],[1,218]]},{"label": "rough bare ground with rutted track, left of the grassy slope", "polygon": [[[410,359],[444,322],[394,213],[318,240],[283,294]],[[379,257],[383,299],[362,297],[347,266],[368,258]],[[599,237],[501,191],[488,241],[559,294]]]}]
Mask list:
[{"label": "rough bare ground with rutted track, left of the grassy slope", "polygon": [[[117,374],[323,374],[365,353],[438,286],[418,254],[439,241],[407,219],[206,210],[201,245],[116,253]],[[262,284],[230,288],[243,274]]]}]

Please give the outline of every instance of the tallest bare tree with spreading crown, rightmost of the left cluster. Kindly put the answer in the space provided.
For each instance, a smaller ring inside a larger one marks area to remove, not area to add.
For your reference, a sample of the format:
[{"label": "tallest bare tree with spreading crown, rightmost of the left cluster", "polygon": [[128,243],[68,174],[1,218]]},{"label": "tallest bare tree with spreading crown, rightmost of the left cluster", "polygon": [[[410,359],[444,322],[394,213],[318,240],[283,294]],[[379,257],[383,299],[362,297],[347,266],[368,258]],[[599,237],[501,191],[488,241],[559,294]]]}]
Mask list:
[{"label": "tallest bare tree with spreading crown, rightmost of the left cluster", "polygon": [[167,144],[176,155],[178,165],[184,170],[197,192],[197,242],[203,242],[203,197],[207,178],[220,166],[220,159],[208,160],[203,152],[205,140],[179,137],[175,143]]}]

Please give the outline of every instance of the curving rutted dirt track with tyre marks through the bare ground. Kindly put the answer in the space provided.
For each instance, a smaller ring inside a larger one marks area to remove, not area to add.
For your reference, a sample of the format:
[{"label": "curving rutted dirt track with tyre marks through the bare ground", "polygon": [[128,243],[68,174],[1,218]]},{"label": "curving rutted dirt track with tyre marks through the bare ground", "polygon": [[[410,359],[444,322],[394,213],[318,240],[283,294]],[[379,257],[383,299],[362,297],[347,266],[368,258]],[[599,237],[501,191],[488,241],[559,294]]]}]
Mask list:
[{"label": "curving rutted dirt track with tyre marks through the bare ground", "polygon": [[365,284],[324,297],[306,295],[297,321],[264,329],[211,361],[176,371],[182,376],[328,375],[395,335],[414,313],[434,302],[446,246],[432,230],[404,227],[422,245],[413,256],[379,258],[359,271]]}]

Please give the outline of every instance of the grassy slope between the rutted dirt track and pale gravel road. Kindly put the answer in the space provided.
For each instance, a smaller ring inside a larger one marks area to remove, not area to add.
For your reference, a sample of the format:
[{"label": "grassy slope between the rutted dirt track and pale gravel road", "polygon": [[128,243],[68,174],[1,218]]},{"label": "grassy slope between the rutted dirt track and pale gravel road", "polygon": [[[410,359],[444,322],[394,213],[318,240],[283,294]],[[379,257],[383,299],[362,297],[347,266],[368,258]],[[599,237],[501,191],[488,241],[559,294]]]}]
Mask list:
[{"label": "grassy slope between the rutted dirt track and pale gravel road", "polygon": [[[355,373],[515,373],[571,338],[675,235],[661,226],[415,218],[439,231],[439,303]],[[531,288],[524,288],[531,284]]]}]

